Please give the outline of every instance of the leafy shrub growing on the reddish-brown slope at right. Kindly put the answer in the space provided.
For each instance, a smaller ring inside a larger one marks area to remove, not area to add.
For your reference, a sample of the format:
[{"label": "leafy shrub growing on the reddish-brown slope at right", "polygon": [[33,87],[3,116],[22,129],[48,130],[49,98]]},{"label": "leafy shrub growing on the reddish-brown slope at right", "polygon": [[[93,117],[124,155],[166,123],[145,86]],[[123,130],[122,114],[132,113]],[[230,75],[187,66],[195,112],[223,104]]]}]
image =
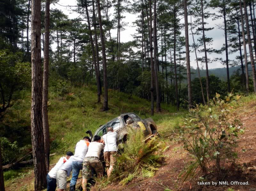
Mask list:
[{"label": "leafy shrub growing on the reddish-brown slope at right", "polygon": [[219,173],[224,159],[236,158],[232,148],[244,129],[231,110],[239,106],[241,96],[229,93],[225,100],[219,97],[216,93],[211,107],[197,105],[191,109],[190,117],[185,119],[186,126],[180,129],[184,148],[194,159],[182,172],[184,180],[193,177],[198,167],[203,174]]}]

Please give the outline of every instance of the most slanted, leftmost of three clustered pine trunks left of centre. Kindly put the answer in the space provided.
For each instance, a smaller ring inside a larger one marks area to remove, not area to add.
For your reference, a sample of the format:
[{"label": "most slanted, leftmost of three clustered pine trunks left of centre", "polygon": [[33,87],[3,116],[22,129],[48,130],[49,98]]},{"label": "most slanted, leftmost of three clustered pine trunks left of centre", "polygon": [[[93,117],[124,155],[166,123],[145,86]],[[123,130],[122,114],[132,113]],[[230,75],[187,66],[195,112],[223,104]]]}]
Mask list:
[{"label": "most slanted, leftmost of three clustered pine trunks left of centre", "polygon": [[100,79],[98,77],[98,70],[97,70],[97,63],[96,63],[96,53],[95,53],[94,43],[93,43],[93,34],[91,32],[91,24],[90,24],[90,17],[89,17],[89,12],[88,12],[88,7],[87,7],[87,0],[85,0],[85,9],[86,9],[88,29],[89,29],[89,36],[90,36],[90,41],[91,41],[91,49],[93,51],[93,63],[94,63],[96,81],[97,81],[98,103],[100,103],[100,82],[99,82]]}]

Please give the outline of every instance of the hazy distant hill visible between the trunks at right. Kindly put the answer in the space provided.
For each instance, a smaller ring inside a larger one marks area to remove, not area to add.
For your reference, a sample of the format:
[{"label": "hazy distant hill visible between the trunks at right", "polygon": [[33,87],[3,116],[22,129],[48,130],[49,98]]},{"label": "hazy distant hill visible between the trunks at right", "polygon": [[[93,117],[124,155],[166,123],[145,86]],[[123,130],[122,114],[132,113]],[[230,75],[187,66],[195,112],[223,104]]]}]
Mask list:
[{"label": "hazy distant hill visible between the trunks at right", "polygon": [[[249,70],[252,70],[252,66],[248,66]],[[229,75],[231,76],[233,72],[236,72],[237,70],[241,71],[241,66],[234,66],[229,68]],[[249,74],[251,71],[249,71]],[[209,75],[215,75],[219,77],[219,79],[226,81],[227,80],[227,69],[226,68],[214,68],[209,70]],[[201,77],[206,76],[206,70],[200,69],[200,75]],[[191,80],[194,80],[196,77],[198,77],[197,69],[191,68]]]}]

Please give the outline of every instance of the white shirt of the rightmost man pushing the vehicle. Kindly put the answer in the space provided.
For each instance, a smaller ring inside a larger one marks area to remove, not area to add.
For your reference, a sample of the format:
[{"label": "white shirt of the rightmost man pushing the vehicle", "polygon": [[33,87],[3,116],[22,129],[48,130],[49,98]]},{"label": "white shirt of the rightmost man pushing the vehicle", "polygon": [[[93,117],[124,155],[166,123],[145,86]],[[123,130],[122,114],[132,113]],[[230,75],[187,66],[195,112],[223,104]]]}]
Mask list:
[{"label": "white shirt of the rightmost man pushing the vehicle", "polygon": [[117,151],[117,133],[109,131],[107,134],[102,136],[102,139],[105,142],[104,152],[107,151]]}]

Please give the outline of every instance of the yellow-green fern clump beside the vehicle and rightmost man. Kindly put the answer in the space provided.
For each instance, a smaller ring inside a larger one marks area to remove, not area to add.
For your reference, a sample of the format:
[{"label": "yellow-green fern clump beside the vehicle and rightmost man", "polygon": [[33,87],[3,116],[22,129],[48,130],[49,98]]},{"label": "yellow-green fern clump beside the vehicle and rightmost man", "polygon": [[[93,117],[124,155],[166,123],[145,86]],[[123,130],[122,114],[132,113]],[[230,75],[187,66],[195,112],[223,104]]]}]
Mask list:
[{"label": "yellow-green fern clump beside the vehicle and rightmost man", "polygon": [[117,157],[117,164],[111,174],[112,180],[119,180],[119,184],[125,185],[134,177],[152,177],[157,167],[164,160],[163,152],[168,148],[153,137],[148,142],[141,129],[130,127],[126,143],[119,144],[122,150]]}]

